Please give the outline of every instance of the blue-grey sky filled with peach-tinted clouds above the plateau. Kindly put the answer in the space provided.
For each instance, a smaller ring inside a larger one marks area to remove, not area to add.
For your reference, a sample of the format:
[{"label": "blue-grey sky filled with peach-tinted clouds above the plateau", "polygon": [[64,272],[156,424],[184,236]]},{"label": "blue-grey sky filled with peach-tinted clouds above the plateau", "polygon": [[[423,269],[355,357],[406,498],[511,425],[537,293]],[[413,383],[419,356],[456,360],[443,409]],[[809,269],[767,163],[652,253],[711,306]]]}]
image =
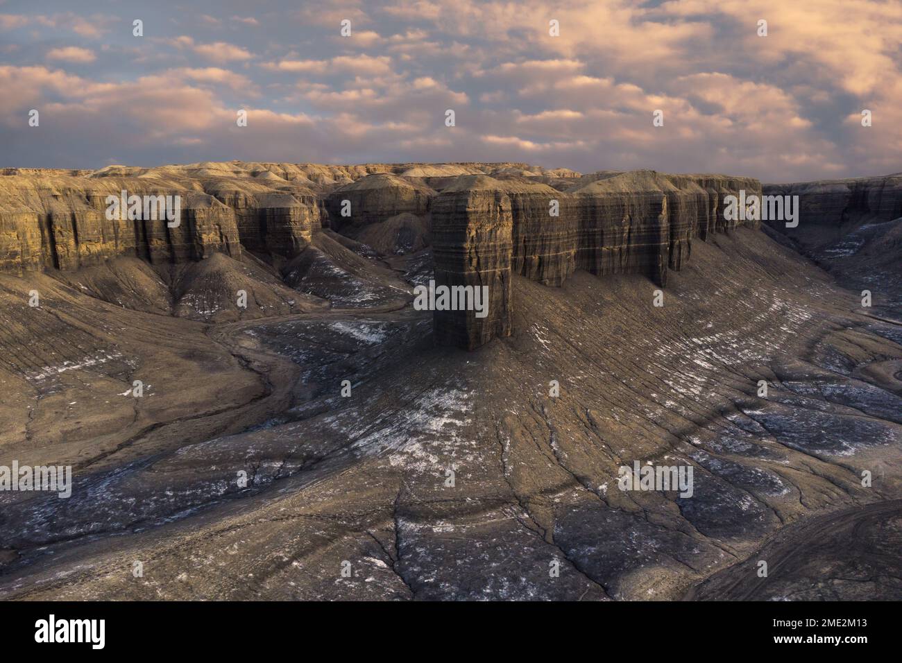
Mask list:
[{"label": "blue-grey sky filled with peach-tinted clouds above the plateau", "polygon": [[881,175],[900,69],[902,0],[0,0],[0,167]]}]

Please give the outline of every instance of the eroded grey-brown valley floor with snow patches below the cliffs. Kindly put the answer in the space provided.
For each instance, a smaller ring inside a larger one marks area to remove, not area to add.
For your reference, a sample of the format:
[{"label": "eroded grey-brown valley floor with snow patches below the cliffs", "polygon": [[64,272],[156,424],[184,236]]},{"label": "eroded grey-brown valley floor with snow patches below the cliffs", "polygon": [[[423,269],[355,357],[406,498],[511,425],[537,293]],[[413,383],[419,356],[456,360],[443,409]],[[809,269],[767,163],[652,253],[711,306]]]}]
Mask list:
[{"label": "eroded grey-brown valley floor with snow patches below the cliffs", "polygon": [[[515,278],[473,353],[381,295],[213,322],[68,281],[0,277],[0,465],[75,473],[0,494],[0,598],[902,597],[902,311],[759,231],[695,240],[661,308]],[[693,496],[619,490],[634,461]]]}]

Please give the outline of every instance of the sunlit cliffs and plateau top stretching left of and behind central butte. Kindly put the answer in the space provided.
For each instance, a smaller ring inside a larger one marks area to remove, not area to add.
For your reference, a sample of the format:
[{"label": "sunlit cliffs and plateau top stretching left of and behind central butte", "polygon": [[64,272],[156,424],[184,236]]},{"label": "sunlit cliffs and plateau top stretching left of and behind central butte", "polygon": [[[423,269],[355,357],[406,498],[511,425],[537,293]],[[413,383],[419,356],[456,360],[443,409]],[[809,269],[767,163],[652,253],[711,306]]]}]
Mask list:
[{"label": "sunlit cliffs and plateau top stretching left of and behind central butte", "polygon": [[[375,233],[380,243],[418,250],[428,241],[428,204],[435,195],[428,183],[444,186],[461,175],[498,170],[537,178],[545,172],[508,162],[332,166],[205,161],[101,170],[5,168],[0,170],[0,272],[71,271],[119,255],[155,264],[199,260],[216,252],[236,257],[242,246],[290,258],[324,227],[354,235],[389,219],[391,228]],[[106,196],[122,190],[181,196],[179,226],[107,220]],[[332,204],[337,199],[340,206],[347,198],[352,200],[350,219]],[[397,236],[381,236],[389,232]]]}]

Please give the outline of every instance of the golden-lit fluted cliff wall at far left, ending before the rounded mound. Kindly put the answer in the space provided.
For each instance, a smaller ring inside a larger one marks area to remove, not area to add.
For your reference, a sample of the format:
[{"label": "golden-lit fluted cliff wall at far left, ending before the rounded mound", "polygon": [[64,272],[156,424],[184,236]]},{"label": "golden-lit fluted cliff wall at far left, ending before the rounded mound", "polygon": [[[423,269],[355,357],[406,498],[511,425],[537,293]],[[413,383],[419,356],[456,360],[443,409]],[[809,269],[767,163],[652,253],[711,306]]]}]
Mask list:
[{"label": "golden-lit fluted cliff wall at far left, ending before the rounded mound", "polygon": [[[7,169],[0,178],[0,271],[77,270],[118,255],[154,264],[211,253],[296,255],[321,225],[311,178],[334,186],[341,172],[259,164],[196,164],[97,171]],[[309,176],[309,177],[308,177]],[[286,178],[291,178],[290,180]],[[106,218],[107,196],[179,196],[179,225]]]}]

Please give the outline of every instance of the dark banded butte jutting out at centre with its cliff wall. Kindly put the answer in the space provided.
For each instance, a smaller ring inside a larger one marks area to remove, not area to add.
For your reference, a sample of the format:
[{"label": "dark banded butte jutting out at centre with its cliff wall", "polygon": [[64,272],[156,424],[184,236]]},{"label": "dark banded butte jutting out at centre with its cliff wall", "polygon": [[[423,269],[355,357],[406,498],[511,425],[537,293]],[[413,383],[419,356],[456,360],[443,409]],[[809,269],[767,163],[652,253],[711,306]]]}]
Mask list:
[{"label": "dark banded butte jutting out at centre with its cliff wall", "polygon": [[693,238],[758,225],[723,218],[724,198],[741,190],[760,195],[760,183],[640,170],[598,173],[560,191],[523,177],[461,177],[432,201],[436,283],[489,285],[490,308],[483,319],[436,311],[436,340],[474,349],[510,335],[511,311],[494,308],[510,305],[508,271],[554,286],[575,269],[638,273],[663,287],[667,270],[688,260]]}]

